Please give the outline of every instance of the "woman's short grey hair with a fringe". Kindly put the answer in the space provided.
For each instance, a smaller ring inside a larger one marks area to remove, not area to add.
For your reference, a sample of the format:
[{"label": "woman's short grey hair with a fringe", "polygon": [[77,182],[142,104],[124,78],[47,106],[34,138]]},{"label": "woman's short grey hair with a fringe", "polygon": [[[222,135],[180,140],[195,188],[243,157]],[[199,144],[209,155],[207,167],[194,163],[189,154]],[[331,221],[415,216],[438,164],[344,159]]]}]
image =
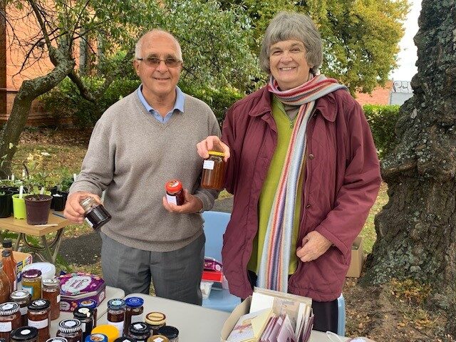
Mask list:
[{"label": "woman's short grey hair with a fringe", "polygon": [[323,42],[320,32],[309,16],[300,13],[280,12],[269,22],[264,33],[259,53],[261,69],[271,73],[269,68],[269,49],[279,41],[296,39],[306,48],[306,61],[314,75],[323,63]]}]

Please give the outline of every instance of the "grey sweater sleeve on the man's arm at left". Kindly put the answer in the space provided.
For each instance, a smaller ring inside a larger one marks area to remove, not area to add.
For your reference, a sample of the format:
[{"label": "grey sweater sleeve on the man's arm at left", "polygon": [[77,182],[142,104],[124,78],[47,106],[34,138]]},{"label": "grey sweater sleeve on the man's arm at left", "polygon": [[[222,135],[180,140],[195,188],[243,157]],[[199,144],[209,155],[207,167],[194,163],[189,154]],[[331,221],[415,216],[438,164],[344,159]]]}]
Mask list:
[{"label": "grey sweater sleeve on the man's arm at left", "polygon": [[111,134],[109,123],[100,118],[93,128],[81,173],[71,185],[70,193],[87,191],[101,196],[113,180],[115,140],[111,139]]}]

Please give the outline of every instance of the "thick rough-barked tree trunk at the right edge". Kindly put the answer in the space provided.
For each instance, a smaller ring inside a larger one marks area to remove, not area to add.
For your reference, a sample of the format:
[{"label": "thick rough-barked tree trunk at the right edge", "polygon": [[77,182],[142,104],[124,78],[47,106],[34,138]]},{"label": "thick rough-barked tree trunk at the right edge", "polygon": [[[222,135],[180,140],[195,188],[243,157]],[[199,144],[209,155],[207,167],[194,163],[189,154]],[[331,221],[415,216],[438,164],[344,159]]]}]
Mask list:
[{"label": "thick rough-barked tree trunk at the right edge", "polygon": [[442,308],[456,299],[456,5],[423,0],[413,98],[400,109],[399,144],[381,163],[388,204],[364,284],[395,277],[430,284]]}]

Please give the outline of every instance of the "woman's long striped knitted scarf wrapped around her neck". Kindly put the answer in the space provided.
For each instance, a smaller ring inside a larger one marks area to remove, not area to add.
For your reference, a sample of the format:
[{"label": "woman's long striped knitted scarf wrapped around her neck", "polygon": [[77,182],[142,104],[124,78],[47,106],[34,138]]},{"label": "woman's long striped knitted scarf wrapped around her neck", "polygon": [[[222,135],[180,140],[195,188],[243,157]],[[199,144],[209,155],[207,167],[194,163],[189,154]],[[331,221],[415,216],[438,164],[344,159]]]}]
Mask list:
[{"label": "woman's long striped knitted scarf wrapped around her neck", "polygon": [[258,286],[264,289],[287,292],[291,236],[293,234],[296,187],[302,172],[306,151],[306,128],[315,101],[338,89],[347,89],[333,78],[311,76],[310,81],[299,87],[281,91],[271,77],[268,90],[287,105],[301,105],[291,133],[279,186],[269,214],[259,265]]}]

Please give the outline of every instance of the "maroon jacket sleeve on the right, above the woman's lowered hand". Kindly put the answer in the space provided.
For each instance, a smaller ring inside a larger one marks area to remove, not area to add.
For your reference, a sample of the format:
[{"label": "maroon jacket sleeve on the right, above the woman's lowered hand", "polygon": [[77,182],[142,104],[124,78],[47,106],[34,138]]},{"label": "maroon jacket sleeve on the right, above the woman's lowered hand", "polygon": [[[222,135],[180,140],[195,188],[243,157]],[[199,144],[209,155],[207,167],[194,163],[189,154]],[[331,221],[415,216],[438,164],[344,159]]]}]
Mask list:
[{"label": "maroon jacket sleeve on the right, above the woman's lowered hand", "polygon": [[316,227],[316,232],[330,240],[343,254],[351,249],[380,188],[380,165],[371,130],[360,105],[347,105],[345,118],[347,161],[343,184],[333,209]]}]

